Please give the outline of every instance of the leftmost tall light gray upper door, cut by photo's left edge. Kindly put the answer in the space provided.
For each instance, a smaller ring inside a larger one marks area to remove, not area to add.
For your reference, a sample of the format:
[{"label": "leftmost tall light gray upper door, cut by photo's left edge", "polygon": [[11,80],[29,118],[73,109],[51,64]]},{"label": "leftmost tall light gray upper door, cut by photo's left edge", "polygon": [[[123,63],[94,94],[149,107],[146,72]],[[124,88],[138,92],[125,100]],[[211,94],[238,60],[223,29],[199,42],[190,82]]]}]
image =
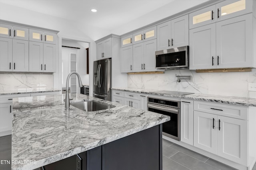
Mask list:
[{"label": "leftmost tall light gray upper door, cut by photo's left edge", "polygon": [[0,71],[12,71],[12,39],[0,37]]}]

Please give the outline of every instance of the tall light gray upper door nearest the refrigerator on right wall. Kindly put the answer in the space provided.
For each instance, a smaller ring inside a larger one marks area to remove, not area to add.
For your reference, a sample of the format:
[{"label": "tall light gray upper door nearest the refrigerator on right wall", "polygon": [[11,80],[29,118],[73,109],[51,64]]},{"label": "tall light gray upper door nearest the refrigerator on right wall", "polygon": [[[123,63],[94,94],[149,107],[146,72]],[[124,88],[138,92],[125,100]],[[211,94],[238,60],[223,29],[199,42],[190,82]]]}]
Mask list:
[{"label": "tall light gray upper door nearest the refrigerator on right wall", "polygon": [[132,72],[132,45],[121,48],[121,72]]}]

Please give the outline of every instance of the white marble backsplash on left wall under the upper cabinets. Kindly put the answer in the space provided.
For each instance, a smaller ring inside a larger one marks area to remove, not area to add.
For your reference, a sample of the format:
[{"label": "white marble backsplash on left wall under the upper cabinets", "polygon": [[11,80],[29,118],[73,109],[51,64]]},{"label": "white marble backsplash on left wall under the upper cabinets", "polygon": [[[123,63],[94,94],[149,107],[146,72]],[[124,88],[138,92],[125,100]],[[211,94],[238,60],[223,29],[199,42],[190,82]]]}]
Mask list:
[{"label": "white marble backsplash on left wall under the upper cabinets", "polygon": [[0,74],[0,93],[53,89],[53,74]]}]

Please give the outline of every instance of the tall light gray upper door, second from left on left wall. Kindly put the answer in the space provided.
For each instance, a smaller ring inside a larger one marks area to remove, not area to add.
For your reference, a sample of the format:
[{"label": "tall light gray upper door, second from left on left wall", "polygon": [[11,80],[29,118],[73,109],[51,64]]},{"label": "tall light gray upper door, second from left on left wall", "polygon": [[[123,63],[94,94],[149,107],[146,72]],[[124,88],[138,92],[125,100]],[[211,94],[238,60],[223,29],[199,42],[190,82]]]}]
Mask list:
[{"label": "tall light gray upper door, second from left on left wall", "polygon": [[28,72],[28,41],[12,40],[12,71]]}]

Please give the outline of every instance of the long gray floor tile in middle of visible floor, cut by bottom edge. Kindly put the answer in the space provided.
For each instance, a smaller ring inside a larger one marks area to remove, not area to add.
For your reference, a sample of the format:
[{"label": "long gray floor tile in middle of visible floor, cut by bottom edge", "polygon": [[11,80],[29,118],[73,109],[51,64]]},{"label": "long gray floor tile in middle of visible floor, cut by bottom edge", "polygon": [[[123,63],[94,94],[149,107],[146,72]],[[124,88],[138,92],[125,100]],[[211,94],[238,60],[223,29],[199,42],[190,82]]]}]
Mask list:
[{"label": "long gray floor tile in middle of visible floor, cut by bottom edge", "polygon": [[182,152],[178,152],[170,157],[170,159],[182,164],[183,166],[189,167],[191,170],[219,170],[213,166],[210,166],[200,160],[192,158]]}]

